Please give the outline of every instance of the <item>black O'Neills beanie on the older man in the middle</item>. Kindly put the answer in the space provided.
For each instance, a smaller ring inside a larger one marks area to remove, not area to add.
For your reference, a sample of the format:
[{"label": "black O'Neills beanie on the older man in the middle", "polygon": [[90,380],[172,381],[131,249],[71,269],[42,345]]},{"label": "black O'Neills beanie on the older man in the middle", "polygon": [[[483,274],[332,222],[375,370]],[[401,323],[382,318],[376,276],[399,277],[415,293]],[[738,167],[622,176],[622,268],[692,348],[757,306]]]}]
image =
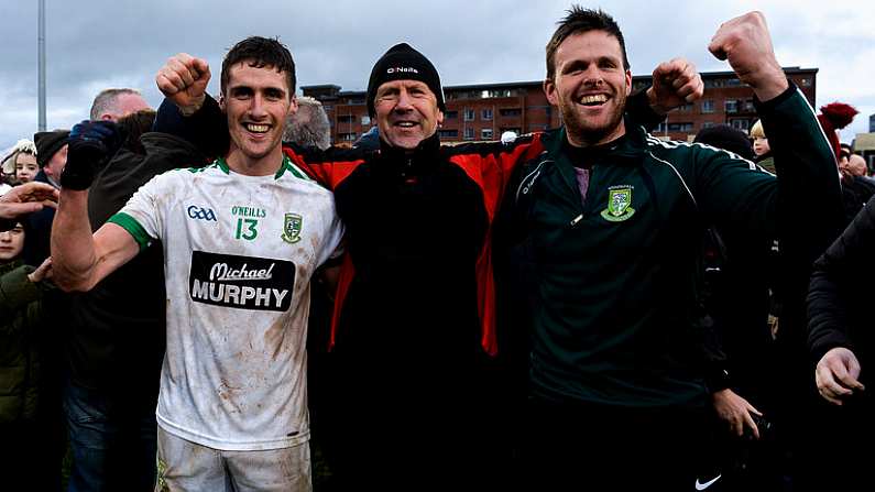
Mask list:
[{"label": "black O'Neills beanie on the older man in the middle", "polygon": [[422,53],[412,48],[407,43],[398,43],[376,61],[368,80],[368,114],[376,114],[374,98],[376,89],[391,80],[419,80],[425,83],[437,98],[438,109],[446,111],[444,106],[444,89],[440,87],[440,76],[431,62]]}]

